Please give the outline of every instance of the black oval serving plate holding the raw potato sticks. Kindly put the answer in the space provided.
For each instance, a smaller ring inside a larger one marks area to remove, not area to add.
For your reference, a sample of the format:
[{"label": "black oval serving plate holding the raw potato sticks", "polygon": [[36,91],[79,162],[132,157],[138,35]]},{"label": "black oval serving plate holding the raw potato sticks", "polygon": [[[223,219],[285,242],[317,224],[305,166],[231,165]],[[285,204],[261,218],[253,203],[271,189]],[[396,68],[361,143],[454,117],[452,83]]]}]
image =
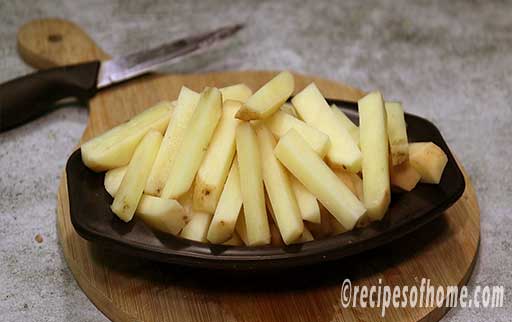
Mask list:
[{"label": "black oval serving plate holding the raw potato sticks", "polygon": [[[328,100],[358,122],[357,104]],[[405,115],[409,140],[432,141],[448,156],[439,185],[418,184],[411,192],[393,194],[388,213],[380,222],[338,236],[285,247],[208,245],[162,235],[136,217],[130,223],[110,210],[112,198],[103,187],[103,173],[89,170],[80,150],[66,165],[71,222],[85,239],[115,251],[178,265],[235,271],[265,271],[339,259],[389,243],[434,218],[464,192],[464,176],[439,130],[429,121]]]}]

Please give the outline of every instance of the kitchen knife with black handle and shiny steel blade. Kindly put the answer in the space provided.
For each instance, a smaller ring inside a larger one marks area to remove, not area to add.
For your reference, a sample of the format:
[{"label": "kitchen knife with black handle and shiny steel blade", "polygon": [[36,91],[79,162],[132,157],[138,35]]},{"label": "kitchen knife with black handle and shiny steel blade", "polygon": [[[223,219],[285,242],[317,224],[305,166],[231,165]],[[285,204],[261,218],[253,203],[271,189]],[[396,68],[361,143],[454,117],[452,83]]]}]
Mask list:
[{"label": "kitchen knife with black handle and shiny steel blade", "polygon": [[228,38],[232,25],[107,61],[91,61],[38,71],[0,85],[0,132],[33,120],[68,97],[89,99],[99,90],[153,71]]}]

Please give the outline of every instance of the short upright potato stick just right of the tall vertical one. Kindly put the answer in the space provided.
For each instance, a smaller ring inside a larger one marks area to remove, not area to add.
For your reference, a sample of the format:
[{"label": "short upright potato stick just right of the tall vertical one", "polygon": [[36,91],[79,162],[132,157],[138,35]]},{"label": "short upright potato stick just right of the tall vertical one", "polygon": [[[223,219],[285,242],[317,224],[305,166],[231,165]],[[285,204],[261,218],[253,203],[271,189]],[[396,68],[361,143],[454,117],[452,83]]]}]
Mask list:
[{"label": "short upright potato stick just right of the tall vertical one", "polygon": [[409,159],[409,143],[404,109],[399,102],[385,102],[391,165],[396,166]]}]

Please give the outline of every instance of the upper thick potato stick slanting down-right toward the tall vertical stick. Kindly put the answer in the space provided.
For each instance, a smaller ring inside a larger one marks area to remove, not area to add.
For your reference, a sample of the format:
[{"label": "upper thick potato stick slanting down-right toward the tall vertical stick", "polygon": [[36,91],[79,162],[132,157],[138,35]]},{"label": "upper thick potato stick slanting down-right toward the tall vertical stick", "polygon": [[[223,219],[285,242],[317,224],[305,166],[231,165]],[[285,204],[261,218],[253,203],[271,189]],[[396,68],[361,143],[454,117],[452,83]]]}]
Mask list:
[{"label": "upper thick potato stick slanting down-right toward the tall vertical stick", "polygon": [[315,83],[309,84],[292,99],[300,117],[309,125],[327,134],[330,147],[327,162],[333,168],[361,170],[361,151],[348,130],[337,120]]}]

